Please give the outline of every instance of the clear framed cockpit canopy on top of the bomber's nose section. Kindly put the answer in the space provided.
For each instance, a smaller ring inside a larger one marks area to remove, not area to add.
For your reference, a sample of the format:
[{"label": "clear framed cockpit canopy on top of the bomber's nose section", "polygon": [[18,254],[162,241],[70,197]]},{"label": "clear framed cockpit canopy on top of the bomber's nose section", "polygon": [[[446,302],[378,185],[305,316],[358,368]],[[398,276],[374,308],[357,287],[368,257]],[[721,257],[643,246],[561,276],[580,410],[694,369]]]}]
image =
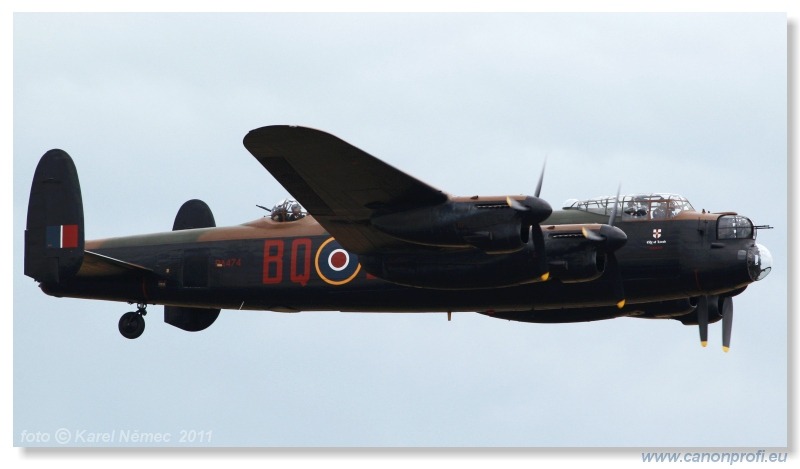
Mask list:
[{"label": "clear framed cockpit canopy on top of the bomber's nose section", "polygon": [[[564,203],[564,210],[583,210],[610,216],[615,199],[616,196],[570,199]],[[633,194],[620,196],[617,216],[629,220],[653,220],[672,218],[687,210],[694,211],[694,207],[685,197],[677,194]]]}]

